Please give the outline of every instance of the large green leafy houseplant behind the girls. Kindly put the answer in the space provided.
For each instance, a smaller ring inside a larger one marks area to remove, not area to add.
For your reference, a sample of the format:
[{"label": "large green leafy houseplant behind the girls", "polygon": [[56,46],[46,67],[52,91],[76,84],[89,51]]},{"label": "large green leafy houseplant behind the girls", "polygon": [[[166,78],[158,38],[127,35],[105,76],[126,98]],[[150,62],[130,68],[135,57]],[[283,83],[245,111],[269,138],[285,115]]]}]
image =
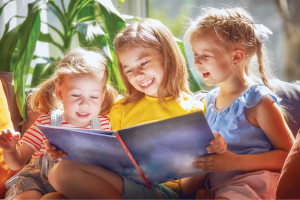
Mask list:
[{"label": "large green leafy houseplant behind the girls", "polygon": [[[10,0],[13,1],[13,0]],[[9,1],[9,2],[10,2]],[[0,8],[0,15],[7,2]],[[58,6],[58,2],[61,6]],[[84,47],[97,47],[102,49],[107,56],[110,72],[109,81],[125,91],[125,87],[119,77],[117,58],[114,52],[113,40],[116,34],[126,26],[125,19],[116,10],[110,0],[71,0],[68,6],[64,0],[37,0],[28,4],[28,14],[25,21],[9,30],[9,22],[5,25],[5,31],[0,39],[0,71],[14,73],[14,88],[17,95],[17,105],[25,120],[25,87],[28,74],[32,74],[31,84],[27,87],[35,87],[41,80],[52,74],[54,58],[44,58],[47,63],[38,63],[31,67],[31,61],[36,59],[34,50],[37,41],[53,44],[63,53],[70,49],[71,41],[78,35],[78,41]],[[123,3],[124,0],[119,0]],[[46,23],[61,39],[58,43],[53,36],[40,32],[42,22],[40,12],[42,5],[54,13],[59,19],[63,30]],[[19,17],[19,16],[15,16]],[[134,18],[137,20],[136,18]],[[10,21],[10,20],[9,20]],[[184,46],[182,41],[177,41],[183,54]],[[191,89],[200,89],[199,82],[190,76]]]}]

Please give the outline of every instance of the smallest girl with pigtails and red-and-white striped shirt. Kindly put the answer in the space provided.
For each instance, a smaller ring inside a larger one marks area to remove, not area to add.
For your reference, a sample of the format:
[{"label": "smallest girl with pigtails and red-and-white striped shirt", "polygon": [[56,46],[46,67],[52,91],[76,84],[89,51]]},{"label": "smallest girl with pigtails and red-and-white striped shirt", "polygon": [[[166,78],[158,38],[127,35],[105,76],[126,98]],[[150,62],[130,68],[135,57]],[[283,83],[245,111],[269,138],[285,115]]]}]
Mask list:
[{"label": "smallest girl with pigtails and red-and-white striped shirt", "polygon": [[[6,199],[40,199],[49,192],[55,192],[48,181],[48,172],[57,162],[45,154],[45,136],[37,125],[111,129],[108,113],[117,92],[106,85],[108,69],[106,59],[100,53],[77,48],[60,61],[54,74],[37,86],[31,96],[33,110],[45,113],[26,131],[20,147],[16,147],[20,133],[12,129],[3,130],[0,147],[12,170],[22,168],[6,182]],[[53,109],[63,107],[63,111]],[[56,118],[53,120],[52,118]],[[92,121],[92,122],[91,122]],[[94,126],[94,127],[92,127]]]}]

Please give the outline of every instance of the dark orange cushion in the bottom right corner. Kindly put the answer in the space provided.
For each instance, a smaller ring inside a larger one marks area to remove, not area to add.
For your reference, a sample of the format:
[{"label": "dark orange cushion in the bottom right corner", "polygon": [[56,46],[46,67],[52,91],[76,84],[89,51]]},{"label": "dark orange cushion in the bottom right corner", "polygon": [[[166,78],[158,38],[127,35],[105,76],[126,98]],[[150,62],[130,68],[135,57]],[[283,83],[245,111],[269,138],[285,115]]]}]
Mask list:
[{"label": "dark orange cushion in the bottom right corner", "polygon": [[284,163],[276,190],[276,199],[300,199],[300,130]]}]

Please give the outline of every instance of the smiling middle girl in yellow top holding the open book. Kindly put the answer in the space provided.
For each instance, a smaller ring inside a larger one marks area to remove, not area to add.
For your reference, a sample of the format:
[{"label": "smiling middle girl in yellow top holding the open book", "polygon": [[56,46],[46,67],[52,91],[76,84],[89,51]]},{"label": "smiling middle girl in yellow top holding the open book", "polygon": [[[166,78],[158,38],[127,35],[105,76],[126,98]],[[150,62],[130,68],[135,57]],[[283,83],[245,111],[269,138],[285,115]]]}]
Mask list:
[{"label": "smiling middle girl in yellow top holding the open book", "polygon": [[[186,64],[180,49],[162,23],[153,19],[135,22],[116,36],[114,45],[118,69],[127,89],[127,96],[109,113],[114,130],[203,109],[188,88]],[[208,149],[214,152],[216,148],[222,153],[224,140],[217,135],[212,142],[215,144]],[[58,192],[71,199],[178,199],[181,196],[179,181],[149,189],[120,174],[68,160],[51,170],[49,180]]]}]

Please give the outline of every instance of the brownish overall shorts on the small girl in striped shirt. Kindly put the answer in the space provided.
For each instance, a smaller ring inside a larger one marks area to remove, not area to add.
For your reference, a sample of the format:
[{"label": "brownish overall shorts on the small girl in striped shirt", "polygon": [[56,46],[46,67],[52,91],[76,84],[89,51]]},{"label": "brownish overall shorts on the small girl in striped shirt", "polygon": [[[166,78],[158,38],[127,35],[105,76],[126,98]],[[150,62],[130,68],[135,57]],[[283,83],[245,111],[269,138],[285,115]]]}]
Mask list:
[{"label": "brownish overall shorts on the small girl in striped shirt", "polygon": [[46,153],[44,157],[31,158],[28,165],[6,181],[5,186],[8,191],[6,192],[5,199],[12,199],[28,190],[38,190],[43,195],[55,192],[55,189],[48,181],[48,174],[56,163],[57,161],[52,160]]}]

